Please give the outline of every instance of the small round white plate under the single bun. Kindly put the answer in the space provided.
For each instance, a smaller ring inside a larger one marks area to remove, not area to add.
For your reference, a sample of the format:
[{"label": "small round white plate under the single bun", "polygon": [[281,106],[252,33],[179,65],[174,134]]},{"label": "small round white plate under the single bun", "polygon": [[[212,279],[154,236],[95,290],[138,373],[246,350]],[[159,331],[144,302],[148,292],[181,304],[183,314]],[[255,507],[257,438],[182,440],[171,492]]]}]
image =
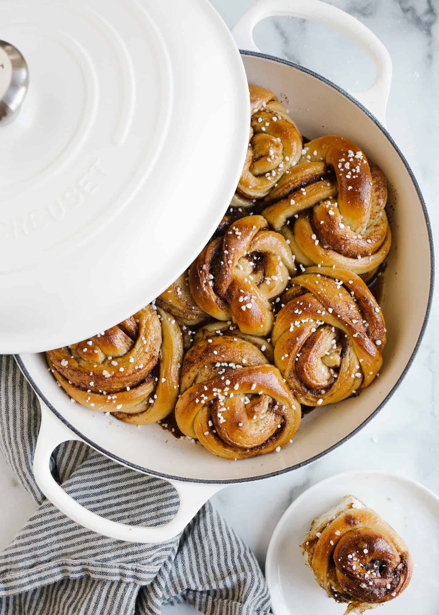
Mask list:
[{"label": "small round white plate under the single bun", "polygon": [[[275,615],[342,615],[347,605],[326,596],[299,548],[314,517],[353,495],[372,508],[407,543],[415,568],[408,588],[382,606],[382,615],[439,613],[439,498],[419,483],[384,472],[347,472],[327,478],[285,511],[271,538],[266,578]],[[381,613],[381,609],[379,611]]]}]

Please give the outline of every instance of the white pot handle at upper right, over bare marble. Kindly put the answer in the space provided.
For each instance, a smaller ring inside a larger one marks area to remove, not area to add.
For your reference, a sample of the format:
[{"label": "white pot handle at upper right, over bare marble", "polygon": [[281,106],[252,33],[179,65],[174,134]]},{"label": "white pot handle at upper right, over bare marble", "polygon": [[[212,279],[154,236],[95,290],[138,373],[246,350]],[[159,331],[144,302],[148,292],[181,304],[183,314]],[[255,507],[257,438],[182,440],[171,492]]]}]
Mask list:
[{"label": "white pot handle at upper right, over bare marble", "polygon": [[363,47],[376,65],[376,77],[365,92],[350,92],[386,125],[386,106],[392,80],[392,60],[382,42],[352,15],[320,0],[258,0],[232,28],[239,49],[259,52],[253,28],[266,17],[290,15],[332,26]]}]

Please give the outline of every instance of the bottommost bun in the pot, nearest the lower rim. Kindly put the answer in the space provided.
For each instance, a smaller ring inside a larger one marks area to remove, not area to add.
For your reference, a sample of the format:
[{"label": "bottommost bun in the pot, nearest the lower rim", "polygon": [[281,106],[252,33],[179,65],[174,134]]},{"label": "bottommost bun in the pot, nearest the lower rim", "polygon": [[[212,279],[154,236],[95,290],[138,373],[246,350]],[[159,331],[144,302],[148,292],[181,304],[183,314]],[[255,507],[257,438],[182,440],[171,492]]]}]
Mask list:
[{"label": "bottommost bun in the pot, nearest the lower rim", "polygon": [[280,450],[297,431],[301,408],[279,370],[267,365],[264,343],[259,350],[237,336],[201,336],[183,360],[178,427],[229,459]]}]

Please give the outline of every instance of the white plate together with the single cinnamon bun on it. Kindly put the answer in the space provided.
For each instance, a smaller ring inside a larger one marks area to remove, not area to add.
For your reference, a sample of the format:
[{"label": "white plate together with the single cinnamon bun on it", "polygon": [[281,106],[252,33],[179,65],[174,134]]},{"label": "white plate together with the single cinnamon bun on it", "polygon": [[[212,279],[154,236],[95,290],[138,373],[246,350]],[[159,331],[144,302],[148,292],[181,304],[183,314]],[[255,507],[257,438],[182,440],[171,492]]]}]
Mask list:
[{"label": "white plate together with the single cinnamon bun on it", "polygon": [[[351,451],[362,457],[358,446]],[[387,472],[346,472],[311,486],[269,544],[274,613],[436,613],[438,515],[438,496]]]}]

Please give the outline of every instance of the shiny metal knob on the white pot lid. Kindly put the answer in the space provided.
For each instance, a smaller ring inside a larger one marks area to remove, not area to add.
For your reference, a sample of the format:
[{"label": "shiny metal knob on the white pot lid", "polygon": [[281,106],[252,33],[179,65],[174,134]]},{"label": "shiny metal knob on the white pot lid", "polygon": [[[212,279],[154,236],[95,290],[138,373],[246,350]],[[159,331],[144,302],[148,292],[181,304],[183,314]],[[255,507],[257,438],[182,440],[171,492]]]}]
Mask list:
[{"label": "shiny metal knob on the white pot lid", "polygon": [[25,58],[14,46],[0,41],[0,126],[17,117],[29,85]]}]

